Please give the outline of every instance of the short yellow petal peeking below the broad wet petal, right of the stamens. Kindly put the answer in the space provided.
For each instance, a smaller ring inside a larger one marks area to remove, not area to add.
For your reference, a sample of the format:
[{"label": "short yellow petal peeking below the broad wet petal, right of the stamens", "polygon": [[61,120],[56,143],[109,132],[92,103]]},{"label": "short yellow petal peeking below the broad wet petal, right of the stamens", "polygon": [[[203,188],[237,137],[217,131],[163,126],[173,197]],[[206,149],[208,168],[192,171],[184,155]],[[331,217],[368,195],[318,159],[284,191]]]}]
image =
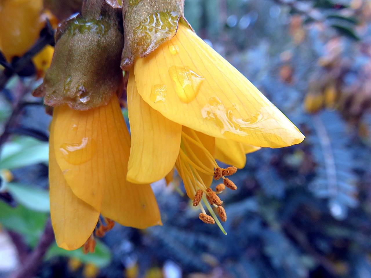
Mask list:
[{"label": "short yellow petal peeking below the broad wet petal, right of the stamens", "polygon": [[220,138],[215,139],[215,144],[215,158],[223,163],[236,166],[239,169],[245,167],[247,153],[252,153],[260,149],[252,145]]}]

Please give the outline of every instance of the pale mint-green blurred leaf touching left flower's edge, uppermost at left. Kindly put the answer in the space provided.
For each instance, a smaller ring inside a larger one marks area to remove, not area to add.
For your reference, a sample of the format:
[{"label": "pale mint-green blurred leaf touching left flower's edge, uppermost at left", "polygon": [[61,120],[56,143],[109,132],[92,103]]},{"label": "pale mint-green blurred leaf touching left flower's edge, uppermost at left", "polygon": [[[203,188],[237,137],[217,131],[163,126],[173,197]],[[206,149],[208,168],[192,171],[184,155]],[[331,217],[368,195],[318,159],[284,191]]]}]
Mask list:
[{"label": "pale mint-green blurred leaf touching left flower's edge, uppermost at left", "polygon": [[30,137],[20,137],[4,144],[0,169],[14,169],[37,163],[47,163],[49,144]]}]

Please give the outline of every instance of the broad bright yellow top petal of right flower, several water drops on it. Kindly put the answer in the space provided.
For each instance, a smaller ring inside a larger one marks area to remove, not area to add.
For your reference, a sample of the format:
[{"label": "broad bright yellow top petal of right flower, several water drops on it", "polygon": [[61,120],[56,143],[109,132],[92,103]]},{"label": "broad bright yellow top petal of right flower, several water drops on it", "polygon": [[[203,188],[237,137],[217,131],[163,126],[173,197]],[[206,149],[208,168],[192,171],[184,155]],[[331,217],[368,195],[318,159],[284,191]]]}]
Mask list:
[{"label": "broad bright yellow top petal of right flower, several water drops on it", "polygon": [[[134,68],[144,101],[181,125],[259,147],[304,139],[250,81],[183,24],[173,39],[138,58]],[[158,88],[163,97],[156,101]]]}]

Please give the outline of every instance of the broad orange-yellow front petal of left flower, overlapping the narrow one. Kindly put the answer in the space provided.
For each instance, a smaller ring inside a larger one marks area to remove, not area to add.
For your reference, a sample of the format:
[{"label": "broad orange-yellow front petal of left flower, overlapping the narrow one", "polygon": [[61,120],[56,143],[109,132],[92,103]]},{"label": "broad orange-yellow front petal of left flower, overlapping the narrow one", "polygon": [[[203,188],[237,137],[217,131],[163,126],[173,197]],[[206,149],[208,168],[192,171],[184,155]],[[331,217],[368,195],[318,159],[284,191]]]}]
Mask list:
[{"label": "broad orange-yellow front petal of left flower, overlapping the narrow one", "polygon": [[78,111],[67,105],[55,115],[54,148],[73,193],[122,225],[160,224],[160,212],[147,185],[126,181],[130,137],[118,98],[102,107]]}]

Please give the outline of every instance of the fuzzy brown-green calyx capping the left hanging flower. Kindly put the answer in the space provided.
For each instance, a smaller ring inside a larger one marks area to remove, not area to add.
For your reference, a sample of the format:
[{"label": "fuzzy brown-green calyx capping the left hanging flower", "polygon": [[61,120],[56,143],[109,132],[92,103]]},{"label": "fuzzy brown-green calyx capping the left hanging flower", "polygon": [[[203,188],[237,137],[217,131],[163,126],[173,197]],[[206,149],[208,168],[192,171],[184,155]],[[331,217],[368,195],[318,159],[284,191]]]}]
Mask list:
[{"label": "fuzzy brown-green calyx capping the left hanging flower", "polygon": [[82,14],[62,23],[43,84],[34,92],[47,105],[87,110],[121,94],[122,12],[104,0],[85,1]]}]

